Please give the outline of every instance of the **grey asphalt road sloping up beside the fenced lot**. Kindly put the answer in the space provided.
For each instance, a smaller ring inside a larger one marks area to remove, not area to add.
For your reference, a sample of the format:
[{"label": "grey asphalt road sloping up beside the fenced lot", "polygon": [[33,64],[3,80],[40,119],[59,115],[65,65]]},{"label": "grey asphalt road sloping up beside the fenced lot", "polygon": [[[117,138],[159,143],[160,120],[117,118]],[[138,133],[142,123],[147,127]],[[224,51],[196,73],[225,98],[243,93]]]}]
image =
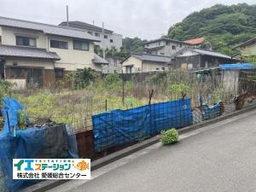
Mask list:
[{"label": "grey asphalt road sloping up beside the fenced lot", "polygon": [[256,192],[256,111],[155,144],[51,191]]}]

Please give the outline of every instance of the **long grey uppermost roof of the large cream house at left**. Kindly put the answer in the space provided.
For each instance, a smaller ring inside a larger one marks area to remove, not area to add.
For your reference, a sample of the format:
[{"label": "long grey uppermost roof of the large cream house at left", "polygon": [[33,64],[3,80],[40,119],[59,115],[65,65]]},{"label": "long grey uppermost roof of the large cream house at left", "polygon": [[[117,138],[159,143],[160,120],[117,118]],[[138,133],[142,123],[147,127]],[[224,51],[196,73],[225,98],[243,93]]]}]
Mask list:
[{"label": "long grey uppermost roof of the large cream house at left", "polygon": [[54,26],[44,23],[32,22],[27,20],[16,20],[6,17],[0,17],[0,26],[12,26],[24,29],[31,29],[36,31],[41,31],[49,35],[57,35],[69,38],[81,38],[90,41],[99,41],[88,32],[82,30],[68,28],[65,26]]}]

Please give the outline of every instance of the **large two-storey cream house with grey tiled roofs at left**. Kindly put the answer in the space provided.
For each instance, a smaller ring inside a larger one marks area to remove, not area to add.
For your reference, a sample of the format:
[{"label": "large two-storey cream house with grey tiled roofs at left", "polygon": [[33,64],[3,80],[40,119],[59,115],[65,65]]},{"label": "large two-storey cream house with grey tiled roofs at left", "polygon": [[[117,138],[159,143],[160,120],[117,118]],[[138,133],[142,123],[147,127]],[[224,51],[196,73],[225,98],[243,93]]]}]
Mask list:
[{"label": "large two-storey cream house with grey tiled roofs at left", "polygon": [[69,71],[102,71],[108,62],[94,53],[94,42],[78,29],[0,17],[1,78],[20,88],[49,88]]}]

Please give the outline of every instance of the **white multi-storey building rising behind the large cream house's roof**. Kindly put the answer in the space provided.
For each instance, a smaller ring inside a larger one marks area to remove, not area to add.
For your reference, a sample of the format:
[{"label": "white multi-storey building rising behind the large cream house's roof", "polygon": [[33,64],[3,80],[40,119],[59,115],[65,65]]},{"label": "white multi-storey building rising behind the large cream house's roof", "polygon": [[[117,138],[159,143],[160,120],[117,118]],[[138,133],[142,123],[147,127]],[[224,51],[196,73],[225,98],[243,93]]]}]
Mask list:
[{"label": "white multi-storey building rising behind the large cream house's roof", "polygon": [[[60,26],[67,26],[67,21],[61,22]],[[88,32],[98,40],[96,43],[102,49],[117,49],[122,47],[122,35],[114,33],[108,29],[102,29],[100,26],[90,25],[81,21],[68,21],[68,26]]]}]

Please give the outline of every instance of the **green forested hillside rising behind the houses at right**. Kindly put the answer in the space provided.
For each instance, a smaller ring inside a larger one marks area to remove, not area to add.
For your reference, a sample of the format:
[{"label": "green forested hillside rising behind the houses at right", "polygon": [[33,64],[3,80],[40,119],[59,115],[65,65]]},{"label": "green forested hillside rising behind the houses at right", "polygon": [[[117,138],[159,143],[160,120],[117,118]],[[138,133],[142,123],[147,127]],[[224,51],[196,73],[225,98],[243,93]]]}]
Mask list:
[{"label": "green forested hillside rising behind the houses at right", "polygon": [[231,47],[256,38],[256,4],[217,4],[202,9],[171,26],[168,36],[178,40],[205,37],[213,49],[232,55]]}]

